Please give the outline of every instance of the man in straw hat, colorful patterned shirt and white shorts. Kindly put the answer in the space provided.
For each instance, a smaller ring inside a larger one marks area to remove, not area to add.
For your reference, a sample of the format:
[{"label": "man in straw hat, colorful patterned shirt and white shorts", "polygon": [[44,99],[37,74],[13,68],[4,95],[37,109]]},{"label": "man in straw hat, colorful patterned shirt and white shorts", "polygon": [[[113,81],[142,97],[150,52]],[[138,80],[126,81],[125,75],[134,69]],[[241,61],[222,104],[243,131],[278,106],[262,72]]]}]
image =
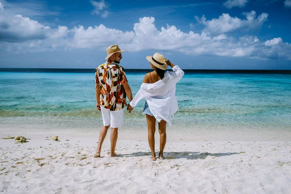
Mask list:
[{"label": "man in straw hat, colorful patterned shirt and white shorts", "polygon": [[110,156],[115,156],[115,146],[118,137],[118,128],[123,125],[123,108],[126,106],[126,97],[132,100],[132,93],[125,71],[118,65],[122,59],[117,45],[106,49],[108,61],[99,65],[95,71],[96,108],[102,113],[103,126],[100,129],[97,152],[94,158],[100,157],[101,146],[106,137],[107,130],[111,127]]}]

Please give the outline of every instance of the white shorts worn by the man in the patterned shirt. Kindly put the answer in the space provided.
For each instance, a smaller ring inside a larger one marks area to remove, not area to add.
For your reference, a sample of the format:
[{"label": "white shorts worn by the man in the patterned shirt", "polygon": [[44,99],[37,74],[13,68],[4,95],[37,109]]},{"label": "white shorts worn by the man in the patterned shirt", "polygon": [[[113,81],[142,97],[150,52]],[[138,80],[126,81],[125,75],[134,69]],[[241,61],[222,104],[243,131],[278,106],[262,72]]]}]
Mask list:
[{"label": "white shorts worn by the man in the patterned shirt", "polygon": [[102,113],[102,120],[104,126],[109,126],[111,128],[119,128],[123,125],[123,109],[118,111],[110,111],[110,109],[100,106]]}]

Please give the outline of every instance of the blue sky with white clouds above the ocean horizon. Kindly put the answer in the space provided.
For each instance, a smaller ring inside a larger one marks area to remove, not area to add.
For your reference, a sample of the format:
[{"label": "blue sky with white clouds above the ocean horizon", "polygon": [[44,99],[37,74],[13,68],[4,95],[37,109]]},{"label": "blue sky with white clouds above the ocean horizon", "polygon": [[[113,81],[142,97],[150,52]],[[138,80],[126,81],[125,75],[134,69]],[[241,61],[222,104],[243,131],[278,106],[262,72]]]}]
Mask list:
[{"label": "blue sky with white clouds above the ocean horizon", "polygon": [[291,69],[291,0],[0,0],[0,67]]}]

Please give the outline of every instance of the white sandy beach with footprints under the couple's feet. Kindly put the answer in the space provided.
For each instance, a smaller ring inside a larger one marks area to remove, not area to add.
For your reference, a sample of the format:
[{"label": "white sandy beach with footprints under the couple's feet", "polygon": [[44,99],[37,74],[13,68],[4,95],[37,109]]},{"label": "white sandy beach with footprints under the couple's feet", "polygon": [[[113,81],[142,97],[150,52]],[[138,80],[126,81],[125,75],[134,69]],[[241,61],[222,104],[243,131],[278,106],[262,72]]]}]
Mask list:
[{"label": "white sandy beach with footprints under the couple's feet", "polygon": [[[7,135],[17,134],[0,133],[1,138]],[[46,140],[48,135],[41,133],[24,136],[32,139],[24,144],[0,139],[0,192],[291,194],[290,140],[183,142],[176,138],[167,142],[164,159],[153,162],[146,136],[119,138],[120,156],[112,158],[107,153],[108,134],[97,159],[93,155],[98,133],[91,138],[61,134],[60,142]],[[157,153],[158,149],[157,143]]]}]

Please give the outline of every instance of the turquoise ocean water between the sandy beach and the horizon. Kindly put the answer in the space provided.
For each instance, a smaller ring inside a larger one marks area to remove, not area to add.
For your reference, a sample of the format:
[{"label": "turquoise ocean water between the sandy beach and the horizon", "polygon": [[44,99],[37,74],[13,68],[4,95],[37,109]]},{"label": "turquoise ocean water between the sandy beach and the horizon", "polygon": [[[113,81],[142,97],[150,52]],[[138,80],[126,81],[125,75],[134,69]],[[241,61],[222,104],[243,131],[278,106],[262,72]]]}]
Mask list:
[{"label": "turquoise ocean water between the sandy beach and the horizon", "polygon": [[[45,71],[45,70],[44,70]],[[146,72],[127,71],[133,95]],[[94,70],[0,72],[0,130],[95,131]],[[176,131],[291,131],[291,74],[187,72],[176,85]],[[122,130],[146,128],[145,100],[124,114]]]}]

